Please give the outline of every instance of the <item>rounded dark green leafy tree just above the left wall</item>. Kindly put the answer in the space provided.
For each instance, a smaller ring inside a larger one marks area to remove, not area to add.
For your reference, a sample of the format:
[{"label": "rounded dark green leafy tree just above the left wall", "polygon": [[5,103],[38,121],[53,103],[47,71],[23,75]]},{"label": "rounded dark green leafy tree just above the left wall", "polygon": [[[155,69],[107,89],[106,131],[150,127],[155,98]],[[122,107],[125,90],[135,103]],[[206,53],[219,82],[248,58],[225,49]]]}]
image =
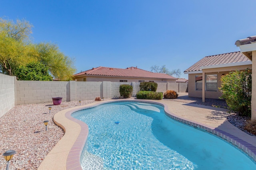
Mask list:
[{"label": "rounded dark green leafy tree just above the left wall", "polygon": [[49,74],[48,69],[44,64],[32,62],[17,68],[15,75],[19,80],[52,81],[52,76]]}]

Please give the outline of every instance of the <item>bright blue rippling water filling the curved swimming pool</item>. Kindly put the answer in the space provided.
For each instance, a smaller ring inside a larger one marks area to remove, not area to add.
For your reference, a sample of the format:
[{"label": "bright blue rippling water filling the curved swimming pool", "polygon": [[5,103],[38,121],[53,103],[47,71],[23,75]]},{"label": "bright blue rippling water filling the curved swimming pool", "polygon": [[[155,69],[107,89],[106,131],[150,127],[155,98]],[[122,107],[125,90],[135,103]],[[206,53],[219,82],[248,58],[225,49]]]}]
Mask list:
[{"label": "bright blue rippling water filling the curved swimming pool", "polygon": [[72,116],[89,127],[81,156],[84,170],[256,169],[256,164],[238,149],[172,120],[157,104],[115,102]]}]

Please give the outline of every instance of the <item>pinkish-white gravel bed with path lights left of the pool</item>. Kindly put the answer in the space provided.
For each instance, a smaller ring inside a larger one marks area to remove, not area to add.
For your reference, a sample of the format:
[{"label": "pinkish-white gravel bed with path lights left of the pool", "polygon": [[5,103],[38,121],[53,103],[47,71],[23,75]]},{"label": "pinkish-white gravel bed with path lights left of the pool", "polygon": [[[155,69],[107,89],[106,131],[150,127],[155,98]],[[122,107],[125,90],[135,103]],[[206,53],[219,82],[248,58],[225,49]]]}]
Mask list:
[{"label": "pinkish-white gravel bed with path lights left of the pool", "polygon": [[[93,103],[84,100],[81,105]],[[6,165],[2,154],[7,150],[15,150],[10,170],[34,170],[50,150],[63,137],[64,131],[53,122],[58,111],[79,106],[78,101],[62,102],[60,105],[51,103],[18,105],[0,117],[0,170]],[[49,113],[49,106],[52,106]],[[43,121],[48,120],[46,127]]]}]

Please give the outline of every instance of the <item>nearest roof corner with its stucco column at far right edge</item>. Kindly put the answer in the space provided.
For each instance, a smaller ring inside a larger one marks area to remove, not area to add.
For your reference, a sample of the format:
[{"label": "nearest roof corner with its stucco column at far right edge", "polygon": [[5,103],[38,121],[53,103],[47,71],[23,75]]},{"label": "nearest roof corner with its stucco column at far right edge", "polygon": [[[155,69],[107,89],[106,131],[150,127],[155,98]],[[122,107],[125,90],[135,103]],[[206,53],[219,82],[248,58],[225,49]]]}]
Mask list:
[{"label": "nearest roof corner with its stucco column at far right edge", "polygon": [[236,46],[252,61],[252,120],[256,120],[256,36],[239,39]]}]

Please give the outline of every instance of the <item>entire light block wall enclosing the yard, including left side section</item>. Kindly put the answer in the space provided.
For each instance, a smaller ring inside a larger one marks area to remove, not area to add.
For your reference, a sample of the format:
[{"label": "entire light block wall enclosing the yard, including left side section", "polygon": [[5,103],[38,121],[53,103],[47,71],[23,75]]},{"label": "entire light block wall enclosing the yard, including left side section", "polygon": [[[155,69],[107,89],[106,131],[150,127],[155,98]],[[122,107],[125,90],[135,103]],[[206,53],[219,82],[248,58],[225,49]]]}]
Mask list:
[{"label": "entire light block wall enclosing the yard, including left side section", "polygon": [[[96,97],[118,98],[121,84],[132,85],[134,97],[140,90],[139,82],[23,81],[0,74],[0,117],[16,104],[52,102],[52,97],[62,97],[67,102]],[[187,87],[187,83],[158,83],[157,92],[186,92]]]}]

